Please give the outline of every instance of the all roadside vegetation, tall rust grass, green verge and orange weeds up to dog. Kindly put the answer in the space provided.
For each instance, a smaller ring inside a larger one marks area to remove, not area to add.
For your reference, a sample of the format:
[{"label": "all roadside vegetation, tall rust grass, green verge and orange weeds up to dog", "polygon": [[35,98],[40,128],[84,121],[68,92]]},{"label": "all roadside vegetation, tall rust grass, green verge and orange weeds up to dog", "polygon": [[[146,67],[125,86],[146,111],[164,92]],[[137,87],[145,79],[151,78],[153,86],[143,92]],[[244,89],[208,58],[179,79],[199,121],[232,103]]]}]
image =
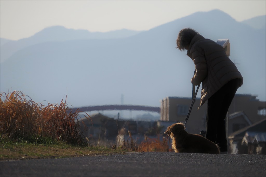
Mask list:
[{"label": "all roadside vegetation, tall rust grass, green verge and orange weeds up to dog", "polygon": [[[35,103],[23,92],[0,92],[0,160],[60,158],[123,153],[125,151],[168,151],[167,139],[147,140],[140,145],[132,138],[119,147],[89,146],[82,136],[79,109],[68,105]],[[86,114],[86,118],[91,120]]]}]

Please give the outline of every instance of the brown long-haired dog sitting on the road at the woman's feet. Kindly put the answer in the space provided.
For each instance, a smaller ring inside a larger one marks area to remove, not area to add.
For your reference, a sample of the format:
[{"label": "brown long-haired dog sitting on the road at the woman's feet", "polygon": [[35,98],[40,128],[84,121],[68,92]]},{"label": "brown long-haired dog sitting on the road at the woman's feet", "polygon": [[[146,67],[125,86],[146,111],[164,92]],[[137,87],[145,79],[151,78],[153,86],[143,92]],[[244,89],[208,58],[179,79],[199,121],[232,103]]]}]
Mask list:
[{"label": "brown long-haired dog sitting on the road at the woman's feet", "polygon": [[173,140],[172,148],[175,152],[220,154],[216,144],[203,136],[186,132],[185,125],[182,123],[167,127],[164,134],[170,134]]}]

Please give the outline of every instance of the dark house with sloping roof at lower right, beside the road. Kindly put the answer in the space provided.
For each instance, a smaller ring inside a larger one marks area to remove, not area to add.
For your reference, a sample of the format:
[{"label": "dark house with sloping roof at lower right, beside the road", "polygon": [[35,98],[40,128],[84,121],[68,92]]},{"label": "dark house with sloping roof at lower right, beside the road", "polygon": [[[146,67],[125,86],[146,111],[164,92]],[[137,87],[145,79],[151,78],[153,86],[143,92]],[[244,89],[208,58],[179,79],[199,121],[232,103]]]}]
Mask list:
[{"label": "dark house with sloping roof at lower right, beside the road", "polygon": [[242,128],[228,137],[229,153],[266,154],[266,119]]}]

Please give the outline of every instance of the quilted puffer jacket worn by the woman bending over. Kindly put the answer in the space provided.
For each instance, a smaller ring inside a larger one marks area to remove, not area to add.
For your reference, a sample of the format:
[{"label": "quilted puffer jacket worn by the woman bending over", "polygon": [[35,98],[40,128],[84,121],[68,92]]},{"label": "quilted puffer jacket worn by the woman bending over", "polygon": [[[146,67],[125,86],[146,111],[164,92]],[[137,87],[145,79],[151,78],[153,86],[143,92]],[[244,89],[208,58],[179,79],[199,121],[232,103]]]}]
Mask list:
[{"label": "quilted puffer jacket worn by the woman bending over", "polygon": [[238,78],[239,87],[243,84],[243,77],[235,64],[216,42],[197,34],[189,45],[187,55],[196,68],[191,82],[194,85],[202,82],[200,106],[228,81]]}]

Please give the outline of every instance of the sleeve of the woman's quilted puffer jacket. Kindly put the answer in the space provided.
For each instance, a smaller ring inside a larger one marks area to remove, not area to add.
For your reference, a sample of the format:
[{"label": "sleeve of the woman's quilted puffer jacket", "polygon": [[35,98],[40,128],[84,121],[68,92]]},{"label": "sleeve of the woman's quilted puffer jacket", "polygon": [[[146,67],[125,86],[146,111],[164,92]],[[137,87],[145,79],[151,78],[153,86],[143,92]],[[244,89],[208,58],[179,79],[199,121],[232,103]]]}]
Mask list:
[{"label": "sleeve of the woman's quilted puffer jacket", "polygon": [[193,50],[192,59],[195,64],[196,73],[191,79],[191,83],[194,85],[200,85],[200,83],[207,77],[207,64],[205,54],[202,50]]}]

